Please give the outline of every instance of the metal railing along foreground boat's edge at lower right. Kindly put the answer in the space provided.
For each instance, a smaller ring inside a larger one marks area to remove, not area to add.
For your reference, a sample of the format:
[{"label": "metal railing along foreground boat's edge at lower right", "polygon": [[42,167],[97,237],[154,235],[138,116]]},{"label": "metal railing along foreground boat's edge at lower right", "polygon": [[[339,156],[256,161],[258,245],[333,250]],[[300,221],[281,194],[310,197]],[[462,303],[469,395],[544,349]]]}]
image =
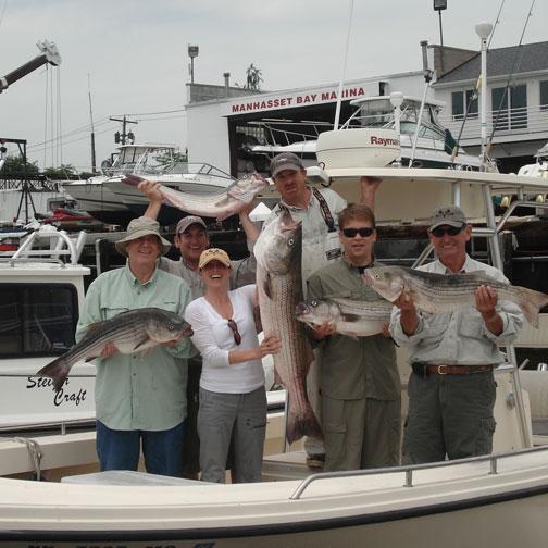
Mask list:
[{"label": "metal railing along foreground boat's edge at lower right", "polygon": [[299,500],[302,494],[308,489],[308,487],[321,479],[331,479],[333,477],[356,477],[356,476],[368,476],[368,475],[378,475],[378,474],[403,474],[404,483],[403,487],[413,487],[413,473],[424,471],[424,470],[435,470],[448,466],[459,466],[463,464],[487,462],[489,464],[489,470],[487,474],[495,475],[498,474],[498,462],[499,460],[506,459],[508,457],[515,457],[516,454],[531,454],[540,451],[547,451],[546,447],[530,447],[526,449],[521,449],[520,451],[508,451],[502,453],[483,454],[481,457],[470,457],[466,459],[456,459],[450,461],[440,462],[428,462],[425,464],[404,464],[402,466],[389,466],[389,468],[374,468],[368,470],[348,470],[340,472],[321,472],[319,474],[313,474],[304,478],[297,489],[289,497],[289,500]]}]

